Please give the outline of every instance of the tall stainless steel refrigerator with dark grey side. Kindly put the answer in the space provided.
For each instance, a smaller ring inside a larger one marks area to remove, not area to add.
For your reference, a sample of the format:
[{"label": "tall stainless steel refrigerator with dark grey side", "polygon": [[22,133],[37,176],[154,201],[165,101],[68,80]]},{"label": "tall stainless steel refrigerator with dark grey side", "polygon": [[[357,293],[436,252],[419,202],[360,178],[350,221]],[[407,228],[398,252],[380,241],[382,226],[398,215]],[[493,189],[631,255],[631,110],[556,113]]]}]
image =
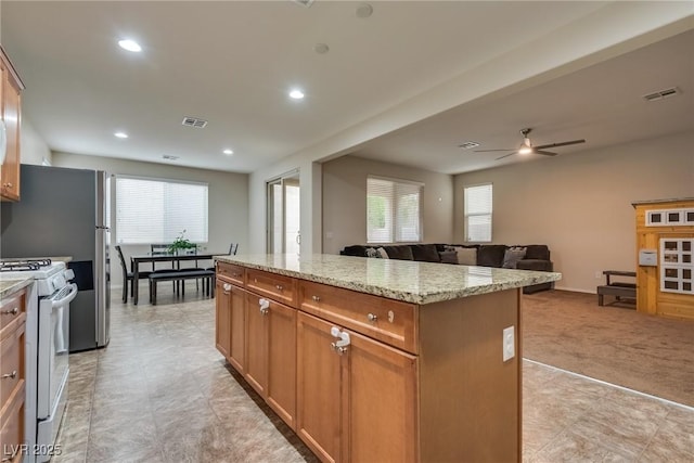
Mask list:
[{"label": "tall stainless steel refrigerator with dark grey side", "polygon": [[20,201],[2,203],[0,258],[72,260],[78,294],[69,306],[69,351],[108,344],[110,180],[104,171],[21,166]]}]

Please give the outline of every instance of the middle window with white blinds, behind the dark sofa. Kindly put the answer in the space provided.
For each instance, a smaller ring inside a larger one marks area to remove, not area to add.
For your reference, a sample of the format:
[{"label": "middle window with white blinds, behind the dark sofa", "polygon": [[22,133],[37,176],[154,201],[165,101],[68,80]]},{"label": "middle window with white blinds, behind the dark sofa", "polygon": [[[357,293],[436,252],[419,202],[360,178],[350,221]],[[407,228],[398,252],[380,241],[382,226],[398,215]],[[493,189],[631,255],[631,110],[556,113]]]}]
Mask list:
[{"label": "middle window with white blinds, behind the dark sofa", "polygon": [[422,183],[367,178],[367,242],[422,241]]}]

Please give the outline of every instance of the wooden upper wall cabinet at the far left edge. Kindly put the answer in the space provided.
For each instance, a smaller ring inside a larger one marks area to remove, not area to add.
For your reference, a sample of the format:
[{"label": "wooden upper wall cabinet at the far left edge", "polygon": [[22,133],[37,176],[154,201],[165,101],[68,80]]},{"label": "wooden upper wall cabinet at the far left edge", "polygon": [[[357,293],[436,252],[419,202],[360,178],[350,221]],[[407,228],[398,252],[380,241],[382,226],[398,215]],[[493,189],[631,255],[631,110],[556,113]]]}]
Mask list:
[{"label": "wooden upper wall cabinet at the far left edge", "polygon": [[0,46],[0,196],[20,200],[20,129],[24,85]]}]

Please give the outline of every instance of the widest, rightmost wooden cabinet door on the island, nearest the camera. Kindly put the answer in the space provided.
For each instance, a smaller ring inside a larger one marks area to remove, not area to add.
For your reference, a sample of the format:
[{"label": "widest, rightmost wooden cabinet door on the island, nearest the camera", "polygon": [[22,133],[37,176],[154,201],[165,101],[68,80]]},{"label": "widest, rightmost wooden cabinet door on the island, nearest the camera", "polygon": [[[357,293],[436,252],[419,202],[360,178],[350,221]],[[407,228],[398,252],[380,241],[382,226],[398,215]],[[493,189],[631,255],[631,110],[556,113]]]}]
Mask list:
[{"label": "widest, rightmost wooden cabinet door on the island, nearest the camera", "polygon": [[414,462],[417,455],[416,357],[349,333],[343,381],[351,462]]}]

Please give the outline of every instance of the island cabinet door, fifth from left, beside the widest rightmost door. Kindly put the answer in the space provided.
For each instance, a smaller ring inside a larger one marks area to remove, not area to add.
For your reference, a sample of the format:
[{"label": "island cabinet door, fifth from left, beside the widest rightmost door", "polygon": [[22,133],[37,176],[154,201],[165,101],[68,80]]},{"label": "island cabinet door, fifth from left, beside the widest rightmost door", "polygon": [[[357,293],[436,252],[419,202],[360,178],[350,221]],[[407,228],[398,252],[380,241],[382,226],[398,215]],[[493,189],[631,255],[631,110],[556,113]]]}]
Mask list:
[{"label": "island cabinet door, fifth from left, beside the widest rightmost door", "polygon": [[330,334],[332,326],[304,312],[297,314],[296,433],[324,462],[343,461],[343,356],[331,349],[335,340]]}]

